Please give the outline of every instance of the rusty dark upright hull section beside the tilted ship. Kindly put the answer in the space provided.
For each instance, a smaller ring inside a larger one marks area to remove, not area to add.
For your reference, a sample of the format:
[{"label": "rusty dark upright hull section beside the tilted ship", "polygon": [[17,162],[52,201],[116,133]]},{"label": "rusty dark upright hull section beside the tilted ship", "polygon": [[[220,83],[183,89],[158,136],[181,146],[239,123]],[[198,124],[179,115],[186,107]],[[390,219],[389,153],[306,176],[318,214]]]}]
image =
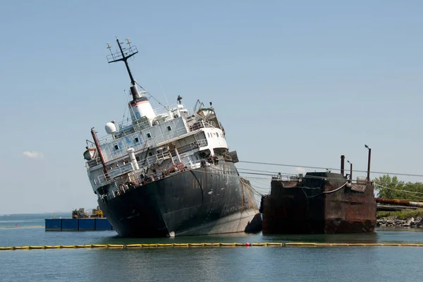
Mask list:
[{"label": "rusty dark upright hull section beside the tilted ship", "polygon": [[270,195],[262,196],[263,234],[367,233],[376,224],[374,185],[341,173],[308,172],[274,176]]}]

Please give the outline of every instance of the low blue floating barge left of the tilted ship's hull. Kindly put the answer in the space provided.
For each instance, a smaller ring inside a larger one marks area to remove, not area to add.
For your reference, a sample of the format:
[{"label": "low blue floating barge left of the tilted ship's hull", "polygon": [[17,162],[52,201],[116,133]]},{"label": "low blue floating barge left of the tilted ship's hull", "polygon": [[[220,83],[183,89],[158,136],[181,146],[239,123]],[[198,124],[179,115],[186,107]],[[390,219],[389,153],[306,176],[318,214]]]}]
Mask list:
[{"label": "low blue floating barge left of the tilted ship's hull", "polygon": [[104,218],[89,219],[45,219],[45,231],[104,231],[113,230]]}]

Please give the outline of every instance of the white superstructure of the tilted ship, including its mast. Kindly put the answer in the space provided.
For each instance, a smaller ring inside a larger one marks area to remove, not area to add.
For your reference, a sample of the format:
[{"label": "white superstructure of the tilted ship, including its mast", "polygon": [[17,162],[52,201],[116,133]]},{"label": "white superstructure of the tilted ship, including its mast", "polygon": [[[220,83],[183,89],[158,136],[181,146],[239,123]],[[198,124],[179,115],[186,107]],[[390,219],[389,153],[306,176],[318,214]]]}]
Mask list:
[{"label": "white superstructure of the tilted ship, including its mast", "polygon": [[98,197],[117,197],[128,185],[142,185],[219,160],[231,161],[236,152],[228,152],[224,130],[212,105],[205,107],[197,102],[190,112],[178,96],[176,105],[153,110],[144,96],[147,92],[138,92],[126,63],[137,53],[136,48],[127,50],[123,53],[121,49],[121,55],[111,54],[109,62],[124,61],[128,68],[133,95],[128,104],[130,120],[106,123],[106,136],[101,138],[92,129],[94,142],[90,142],[84,156],[94,193]]}]

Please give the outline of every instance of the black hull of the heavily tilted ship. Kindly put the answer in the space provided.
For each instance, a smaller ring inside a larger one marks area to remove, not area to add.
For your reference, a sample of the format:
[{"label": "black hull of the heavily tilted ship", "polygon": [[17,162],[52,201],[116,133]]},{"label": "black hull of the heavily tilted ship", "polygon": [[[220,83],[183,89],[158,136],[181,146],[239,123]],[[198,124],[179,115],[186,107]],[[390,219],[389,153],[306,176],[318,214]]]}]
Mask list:
[{"label": "black hull of the heavily tilted ship", "polygon": [[253,231],[257,206],[233,163],[184,171],[127,190],[99,206],[124,237]]}]

